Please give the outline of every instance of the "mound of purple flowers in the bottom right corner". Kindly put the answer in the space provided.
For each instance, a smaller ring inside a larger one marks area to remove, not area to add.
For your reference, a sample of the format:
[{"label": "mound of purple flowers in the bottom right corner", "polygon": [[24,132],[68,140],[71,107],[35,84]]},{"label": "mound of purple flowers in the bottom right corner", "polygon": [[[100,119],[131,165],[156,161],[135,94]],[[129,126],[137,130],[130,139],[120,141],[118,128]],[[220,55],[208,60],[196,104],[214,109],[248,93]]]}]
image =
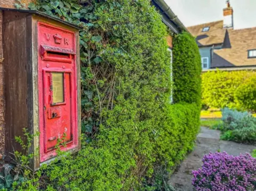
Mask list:
[{"label": "mound of purple flowers in the bottom right corner", "polygon": [[256,189],[256,159],[250,154],[232,156],[227,153],[203,157],[201,169],[193,171],[192,184],[197,191]]}]

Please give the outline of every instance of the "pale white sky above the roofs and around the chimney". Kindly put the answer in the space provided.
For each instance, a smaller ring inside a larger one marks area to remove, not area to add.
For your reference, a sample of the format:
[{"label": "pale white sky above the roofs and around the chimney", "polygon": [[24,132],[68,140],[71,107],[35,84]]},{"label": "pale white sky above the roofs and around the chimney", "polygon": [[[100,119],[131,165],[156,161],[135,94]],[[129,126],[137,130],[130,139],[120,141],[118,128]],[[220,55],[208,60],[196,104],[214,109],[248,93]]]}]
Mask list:
[{"label": "pale white sky above the roofs and around the chimney", "polygon": [[[165,0],[186,26],[223,20],[226,0]],[[256,0],[230,0],[234,10],[234,28],[256,27]]]}]

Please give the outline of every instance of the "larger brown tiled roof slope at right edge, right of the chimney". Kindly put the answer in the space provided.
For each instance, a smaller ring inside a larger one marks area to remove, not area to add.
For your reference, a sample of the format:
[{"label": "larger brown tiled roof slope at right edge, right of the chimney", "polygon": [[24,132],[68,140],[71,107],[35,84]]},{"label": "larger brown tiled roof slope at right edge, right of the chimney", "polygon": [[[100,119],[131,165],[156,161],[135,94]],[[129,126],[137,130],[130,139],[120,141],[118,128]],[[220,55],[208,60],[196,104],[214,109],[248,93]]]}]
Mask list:
[{"label": "larger brown tiled roof slope at right edge, right of the chimney", "polygon": [[256,49],[256,27],[228,29],[223,48],[213,52],[211,68],[256,65],[256,59],[248,59],[250,49]]}]

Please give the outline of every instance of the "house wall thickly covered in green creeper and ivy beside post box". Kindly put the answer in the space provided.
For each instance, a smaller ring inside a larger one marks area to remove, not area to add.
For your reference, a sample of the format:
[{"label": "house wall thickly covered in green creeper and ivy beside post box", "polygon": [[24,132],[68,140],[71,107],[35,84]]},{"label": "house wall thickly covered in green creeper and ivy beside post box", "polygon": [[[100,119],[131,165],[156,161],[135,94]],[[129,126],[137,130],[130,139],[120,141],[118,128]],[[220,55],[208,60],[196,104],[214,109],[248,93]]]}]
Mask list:
[{"label": "house wall thickly covered in green creeper and ivy beside post box", "polygon": [[195,39],[183,33],[174,40],[176,104],[171,105],[167,29],[150,1],[38,0],[29,8],[84,28],[82,150],[60,155],[33,176],[26,173],[15,186],[169,189],[165,175],[193,148],[199,128],[201,63]]}]

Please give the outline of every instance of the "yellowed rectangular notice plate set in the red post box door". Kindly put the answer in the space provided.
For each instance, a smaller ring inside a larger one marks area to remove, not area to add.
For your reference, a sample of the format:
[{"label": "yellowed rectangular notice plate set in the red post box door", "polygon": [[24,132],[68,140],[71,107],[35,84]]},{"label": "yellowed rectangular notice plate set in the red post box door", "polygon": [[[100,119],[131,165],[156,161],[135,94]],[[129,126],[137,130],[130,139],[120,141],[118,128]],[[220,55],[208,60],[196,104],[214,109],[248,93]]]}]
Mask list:
[{"label": "yellowed rectangular notice plate set in the red post box door", "polygon": [[52,96],[53,103],[64,102],[63,73],[52,73]]}]

